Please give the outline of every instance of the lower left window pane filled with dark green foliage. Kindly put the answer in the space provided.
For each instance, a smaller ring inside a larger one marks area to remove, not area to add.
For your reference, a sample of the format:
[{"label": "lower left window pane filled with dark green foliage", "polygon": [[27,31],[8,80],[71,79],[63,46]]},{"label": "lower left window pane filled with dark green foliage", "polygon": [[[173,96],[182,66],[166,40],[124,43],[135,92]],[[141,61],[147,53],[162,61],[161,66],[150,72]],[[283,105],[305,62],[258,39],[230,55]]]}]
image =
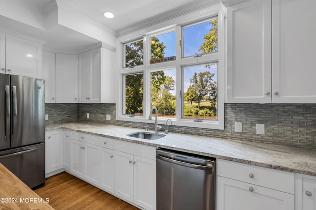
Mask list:
[{"label": "lower left window pane filled with dark green foliage", "polygon": [[143,115],[143,73],[123,75],[125,110],[123,114]]}]

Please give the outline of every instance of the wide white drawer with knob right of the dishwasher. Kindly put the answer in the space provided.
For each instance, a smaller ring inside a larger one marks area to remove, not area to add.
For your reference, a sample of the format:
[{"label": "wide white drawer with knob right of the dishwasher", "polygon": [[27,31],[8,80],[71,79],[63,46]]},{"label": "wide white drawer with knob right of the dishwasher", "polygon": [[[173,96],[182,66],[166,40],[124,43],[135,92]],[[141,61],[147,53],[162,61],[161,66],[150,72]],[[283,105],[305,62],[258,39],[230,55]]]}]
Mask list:
[{"label": "wide white drawer with knob right of the dishwasher", "polygon": [[217,175],[294,194],[294,174],[217,159]]}]

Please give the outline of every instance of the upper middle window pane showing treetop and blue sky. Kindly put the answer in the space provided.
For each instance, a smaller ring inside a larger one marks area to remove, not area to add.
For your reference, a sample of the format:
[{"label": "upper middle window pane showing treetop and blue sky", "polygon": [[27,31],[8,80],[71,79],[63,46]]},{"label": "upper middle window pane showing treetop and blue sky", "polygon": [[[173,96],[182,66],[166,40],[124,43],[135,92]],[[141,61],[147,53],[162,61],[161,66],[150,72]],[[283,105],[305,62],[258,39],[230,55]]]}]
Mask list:
[{"label": "upper middle window pane showing treetop and blue sky", "polygon": [[150,64],[176,60],[175,55],[176,55],[176,32],[175,31],[151,37]]}]

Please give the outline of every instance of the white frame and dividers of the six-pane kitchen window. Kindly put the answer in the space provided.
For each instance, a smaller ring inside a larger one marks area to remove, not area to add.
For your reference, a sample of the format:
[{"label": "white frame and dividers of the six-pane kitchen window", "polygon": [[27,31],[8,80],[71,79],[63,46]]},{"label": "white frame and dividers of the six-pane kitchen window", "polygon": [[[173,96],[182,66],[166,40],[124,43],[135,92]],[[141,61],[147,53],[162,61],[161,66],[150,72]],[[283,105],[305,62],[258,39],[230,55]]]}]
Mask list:
[{"label": "white frame and dividers of the six-pane kitchen window", "polygon": [[[190,18],[190,16],[184,18],[185,21],[180,22],[178,20],[178,24],[170,24],[170,27],[160,27],[161,30],[150,30],[145,33],[143,30],[139,31],[139,33],[143,33],[143,50],[144,50],[144,58],[143,58],[143,65],[138,65],[133,68],[127,68],[121,66],[120,70],[117,72],[119,78],[122,78],[122,75],[126,74],[134,74],[143,72],[144,76],[144,94],[143,94],[143,116],[134,116],[133,118],[128,117],[127,115],[122,115],[122,108],[123,108],[123,100],[124,95],[121,95],[123,91],[122,88],[125,87],[122,79],[119,80],[119,96],[117,100],[117,114],[116,120],[123,120],[123,121],[134,121],[134,122],[143,122],[143,123],[155,123],[155,120],[148,120],[150,110],[151,110],[151,72],[153,71],[160,71],[160,70],[169,70],[169,69],[176,69],[176,118],[172,120],[173,125],[177,126],[187,126],[187,127],[198,127],[198,128],[209,128],[209,129],[224,129],[224,98],[225,98],[225,33],[224,33],[224,13],[225,8],[218,4],[213,6],[211,12],[207,14],[204,13],[203,16]],[[194,25],[195,23],[201,23],[203,21],[211,20],[217,17],[217,52],[202,54],[201,57],[184,57],[182,58],[182,47],[179,49],[180,40],[182,39],[182,27]],[[159,34],[164,34],[170,31],[176,31],[176,60],[150,64],[151,58],[151,50],[150,50],[150,43],[151,37]],[[135,35],[135,34],[134,34]],[[131,37],[131,34],[125,35],[120,38],[119,43],[121,46],[122,44],[132,43],[133,41],[141,40],[140,36],[135,35],[134,38]],[[118,49],[122,49],[120,47]],[[123,52],[118,52],[120,54],[119,59],[121,60],[123,56]],[[125,59],[125,58],[124,58]],[[125,62],[121,62],[125,64]],[[182,118],[182,100],[183,100],[183,75],[182,75],[182,68],[185,66],[190,65],[199,65],[205,63],[217,62],[217,120],[203,120],[202,122],[194,122],[191,119]],[[182,92],[182,95],[180,94]],[[181,96],[180,96],[181,95]],[[165,124],[167,118],[159,118],[159,124]]]}]

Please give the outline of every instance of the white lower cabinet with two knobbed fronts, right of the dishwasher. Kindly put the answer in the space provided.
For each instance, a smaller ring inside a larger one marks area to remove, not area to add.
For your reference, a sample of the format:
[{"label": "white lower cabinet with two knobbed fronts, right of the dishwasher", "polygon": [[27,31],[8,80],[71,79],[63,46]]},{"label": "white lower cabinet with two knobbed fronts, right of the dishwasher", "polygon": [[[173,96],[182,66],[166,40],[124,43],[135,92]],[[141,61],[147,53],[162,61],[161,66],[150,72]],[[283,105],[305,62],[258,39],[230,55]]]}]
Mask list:
[{"label": "white lower cabinet with two knobbed fronts, right of the dishwasher", "polygon": [[294,174],[217,159],[217,210],[294,210]]}]

